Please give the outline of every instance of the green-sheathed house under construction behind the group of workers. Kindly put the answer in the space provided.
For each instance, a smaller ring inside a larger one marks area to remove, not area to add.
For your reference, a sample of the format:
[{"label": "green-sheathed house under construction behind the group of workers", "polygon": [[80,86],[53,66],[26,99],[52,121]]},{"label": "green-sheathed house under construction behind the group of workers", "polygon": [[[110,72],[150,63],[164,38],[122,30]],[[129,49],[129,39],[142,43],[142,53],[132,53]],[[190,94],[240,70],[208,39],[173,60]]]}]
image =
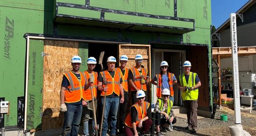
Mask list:
[{"label": "green-sheathed house under construction behind the group of workers", "polygon": [[[162,60],[176,77],[182,63],[191,61],[202,82],[198,114],[209,117],[210,26],[210,0],[1,0],[0,99],[10,109],[0,128],[60,128],[60,83],[70,58],[79,54],[84,71],[88,56],[98,61],[102,51],[104,66],[110,55],[126,54],[132,67],[142,54],[151,78]],[[154,87],[148,91],[152,104]],[[181,92],[174,89],[174,104],[181,105]]]}]

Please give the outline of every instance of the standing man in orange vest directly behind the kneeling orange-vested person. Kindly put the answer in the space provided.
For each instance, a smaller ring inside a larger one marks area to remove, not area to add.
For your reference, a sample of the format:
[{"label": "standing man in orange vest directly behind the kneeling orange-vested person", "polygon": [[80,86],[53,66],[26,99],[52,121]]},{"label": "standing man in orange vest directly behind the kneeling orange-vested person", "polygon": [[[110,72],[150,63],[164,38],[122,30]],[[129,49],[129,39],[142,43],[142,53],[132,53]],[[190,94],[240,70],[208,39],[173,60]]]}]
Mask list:
[{"label": "standing man in orange vest directly behind the kneeling orange-vested person", "polygon": [[141,54],[135,56],[136,66],[131,68],[128,73],[128,82],[130,84],[131,95],[132,95],[132,104],[137,102],[136,92],[138,90],[143,90],[146,94],[145,100],[147,101],[147,83],[149,82],[149,77],[147,68],[142,68],[141,64],[143,57]]}]

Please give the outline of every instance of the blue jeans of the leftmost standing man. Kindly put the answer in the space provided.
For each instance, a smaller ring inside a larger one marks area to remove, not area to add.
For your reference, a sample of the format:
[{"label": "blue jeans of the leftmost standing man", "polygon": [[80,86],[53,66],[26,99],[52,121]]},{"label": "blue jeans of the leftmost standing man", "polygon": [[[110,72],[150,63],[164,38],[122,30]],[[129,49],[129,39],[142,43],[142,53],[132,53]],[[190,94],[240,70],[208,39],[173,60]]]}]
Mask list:
[{"label": "blue jeans of the leftmost standing man", "polygon": [[82,104],[66,104],[67,111],[64,113],[63,136],[77,136],[82,115]]}]

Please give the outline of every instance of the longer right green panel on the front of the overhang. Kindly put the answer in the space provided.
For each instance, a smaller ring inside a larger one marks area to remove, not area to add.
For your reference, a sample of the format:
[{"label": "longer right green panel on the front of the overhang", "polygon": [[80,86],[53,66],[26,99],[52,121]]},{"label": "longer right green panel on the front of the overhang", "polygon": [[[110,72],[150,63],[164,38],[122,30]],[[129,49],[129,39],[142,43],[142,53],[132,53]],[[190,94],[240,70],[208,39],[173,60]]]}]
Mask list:
[{"label": "longer right green panel on the front of the overhang", "polygon": [[108,13],[108,12],[105,12],[105,20],[149,24],[149,25],[173,26],[173,27],[188,28],[188,29],[194,28],[194,23],[188,22],[188,21],[147,18],[147,17],[139,17],[139,16],[133,16],[133,15],[127,15],[127,14],[115,14],[115,13]]}]

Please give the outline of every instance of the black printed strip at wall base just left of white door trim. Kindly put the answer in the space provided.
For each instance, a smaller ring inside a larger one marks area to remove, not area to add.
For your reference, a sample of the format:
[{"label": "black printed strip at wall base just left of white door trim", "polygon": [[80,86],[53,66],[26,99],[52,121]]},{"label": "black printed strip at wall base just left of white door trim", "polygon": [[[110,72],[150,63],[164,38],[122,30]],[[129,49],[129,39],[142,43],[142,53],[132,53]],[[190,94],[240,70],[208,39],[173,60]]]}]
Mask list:
[{"label": "black printed strip at wall base just left of white door trim", "polygon": [[24,129],[25,97],[18,97],[17,104],[17,127]]}]

